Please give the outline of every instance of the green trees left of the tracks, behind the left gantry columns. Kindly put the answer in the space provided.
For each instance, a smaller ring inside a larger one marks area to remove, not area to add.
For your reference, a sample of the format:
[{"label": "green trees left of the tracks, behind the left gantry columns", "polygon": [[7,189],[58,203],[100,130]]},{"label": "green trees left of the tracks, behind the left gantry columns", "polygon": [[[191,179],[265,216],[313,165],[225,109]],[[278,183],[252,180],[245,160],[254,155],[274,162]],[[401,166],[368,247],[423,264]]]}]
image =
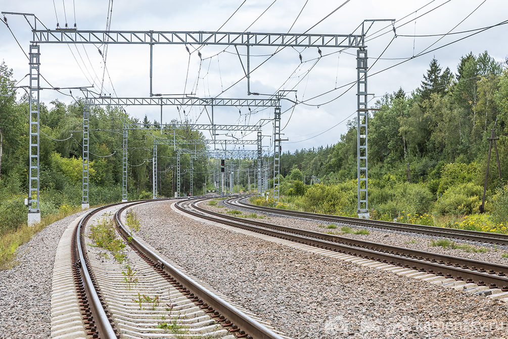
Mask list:
[{"label": "green trees left of the tracks, behind the left gantry columns", "polygon": [[[28,191],[28,97],[22,89],[15,90],[16,80],[5,63],[0,65],[0,235],[26,224]],[[17,94],[17,95],[16,95]],[[120,201],[122,197],[122,124],[140,122],[152,129],[129,130],[128,198],[152,196],[153,138],[197,140],[180,146],[204,149],[204,135],[179,127],[175,136],[161,134],[157,122],[146,116],[139,121],[121,107],[94,106],[90,110],[90,187],[92,205]],[[176,124],[176,120],[171,124]],[[66,105],[52,101],[40,106],[40,209],[43,217],[81,205],[82,200],[82,139],[83,100],[76,98]],[[165,130],[165,131],[166,131]],[[158,192],[173,196],[176,191],[176,152],[173,145],[158,145]],[[181,156],[181,190],[189,191],[189,155]],[[208,171],[205,159],[196,159],[195,188],[202,190]]]}]

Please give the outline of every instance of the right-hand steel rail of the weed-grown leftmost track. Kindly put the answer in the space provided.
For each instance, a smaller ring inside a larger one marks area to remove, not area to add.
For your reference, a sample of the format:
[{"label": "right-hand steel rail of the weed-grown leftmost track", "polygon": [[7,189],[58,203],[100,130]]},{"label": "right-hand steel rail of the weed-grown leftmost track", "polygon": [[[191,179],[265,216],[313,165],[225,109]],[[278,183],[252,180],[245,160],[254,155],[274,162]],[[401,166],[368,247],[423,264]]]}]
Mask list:
[{"label": "right-hand steel rail of the weed-grown leftmost track", "polygon": [[[195,201],[195,199],[190,201]],[[250,316],[246,315],[245,313],[239,311],[229,302],[225,301],[223,298],[211,292],[206,287],[194,281],[188,275],[186,275],[185,273],[183,273],[182,271],[171,265],[169,262],[167,262],[164,258],[148,249],[143,243],[141,243],[136,238],[135,235],[131,234],[121,222],[120,215],[126,208],[130,208],[132,206],[142,204],[145,202],[149,201],[135,202],[129,204],[128,206],[124,206],[120,208],[118,211],[116,211],[115,221],[118,225],[118,230],[120,234],[124,238],[129,237],[129,242],[135,248],[141,251],[141,253],[143,253],[146,257],[148,257],[156,265],[156,267],[162,269],[164,272],[169,274],[171,278],[175,279],[179,284],[183,285],[188,291],[192,292],[196,296],[199,296],[199,298],[201,298],[209,306],[209,310],[211,307],[220,315],[228,319],[232,324],[238,326],[238,328],[245,331],[248,335],[250,335],[255,339],[282,339],[282,336],[278,335],[277,333],[267,328],[266,326],[262,325],[261,323],[251,318]]]}]

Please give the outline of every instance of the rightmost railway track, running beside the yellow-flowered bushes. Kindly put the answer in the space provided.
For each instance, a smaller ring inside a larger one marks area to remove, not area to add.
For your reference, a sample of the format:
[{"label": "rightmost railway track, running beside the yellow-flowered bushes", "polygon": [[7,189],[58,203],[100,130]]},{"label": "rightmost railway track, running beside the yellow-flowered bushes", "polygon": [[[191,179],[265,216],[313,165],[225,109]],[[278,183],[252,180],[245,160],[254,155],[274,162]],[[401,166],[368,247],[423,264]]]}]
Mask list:
[{"label": "rightmost railway track, running beside the yellow-flowered bushes", "polygon": [[442,238],[461,239],[468,241],[475,241],[481,243],[492,243],[497,245],[508,245],[508,234],[501,233],[489,233],[489,232],[478,232],[470,230],[461,230],[455,228],[443,228],[436,226],[426,225],[414,225],[414,224],[403,224],[386,222],[379,220],[366,220],[361,218],[352,217],[340,217],[338,215],[319,214],[311,212],[292,211],[287,209],[264,207],[258,205],[252,205],[241,201],[245,197],[235,197],[224,201],[225,205],[231,208],[244,208],[250,210],[261,211],[265,213],[275,213],[281,215],[289,215],[290,217],[321,220],[331,223],[341,223],[354,225],[359,227],[373,227],[380,229],[387,229],[399,232],[410,232],[416,234],[432,235]]}]

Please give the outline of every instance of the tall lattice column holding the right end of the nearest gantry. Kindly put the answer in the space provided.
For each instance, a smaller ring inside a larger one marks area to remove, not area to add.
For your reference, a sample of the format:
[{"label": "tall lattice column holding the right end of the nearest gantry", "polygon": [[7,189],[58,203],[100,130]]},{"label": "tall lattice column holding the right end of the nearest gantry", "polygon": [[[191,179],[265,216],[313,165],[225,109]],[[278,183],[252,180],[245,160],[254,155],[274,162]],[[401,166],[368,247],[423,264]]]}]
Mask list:
[{"label": "tall lattice column holding the right end of the nearest gantry", "polygon": [[358,217],[369,219],[367,191],[367,50],[357,50],[357,176],[358,176]]}]

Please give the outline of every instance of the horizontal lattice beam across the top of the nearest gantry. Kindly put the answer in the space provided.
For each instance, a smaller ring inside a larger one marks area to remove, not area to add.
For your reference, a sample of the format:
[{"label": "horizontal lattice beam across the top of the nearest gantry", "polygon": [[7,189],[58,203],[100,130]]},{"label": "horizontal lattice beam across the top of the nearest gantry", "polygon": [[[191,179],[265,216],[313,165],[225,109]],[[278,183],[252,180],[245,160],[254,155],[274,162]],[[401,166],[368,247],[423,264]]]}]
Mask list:
[{"label": "horizontal lattice beam across the top of the nearest gantry", "polygon": [[363,35],[154,30],[34,29],[33,43],[364,47]]}]

